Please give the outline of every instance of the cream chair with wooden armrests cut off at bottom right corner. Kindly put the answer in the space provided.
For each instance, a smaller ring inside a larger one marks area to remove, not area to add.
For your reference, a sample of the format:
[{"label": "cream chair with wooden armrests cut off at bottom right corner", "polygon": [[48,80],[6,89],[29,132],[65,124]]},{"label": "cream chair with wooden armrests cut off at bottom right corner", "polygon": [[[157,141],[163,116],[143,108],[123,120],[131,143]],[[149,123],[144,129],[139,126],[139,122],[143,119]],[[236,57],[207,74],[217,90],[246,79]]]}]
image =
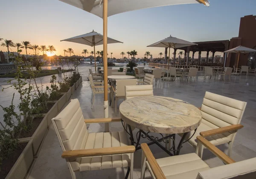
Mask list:
[{"label": "cream chair with wooden armrests cut off at bottom right corner", "polygon": [[225,153],[212,145],[207,139],[198,136],[198,148],[204,145],[225,164],[209,168],[199,153],[188,153],[155,159],[148,145],[143,143],[141,179],[144,179],[145,169],[148,168],[153,179],[255,179],[256,158],[235,162]]}]

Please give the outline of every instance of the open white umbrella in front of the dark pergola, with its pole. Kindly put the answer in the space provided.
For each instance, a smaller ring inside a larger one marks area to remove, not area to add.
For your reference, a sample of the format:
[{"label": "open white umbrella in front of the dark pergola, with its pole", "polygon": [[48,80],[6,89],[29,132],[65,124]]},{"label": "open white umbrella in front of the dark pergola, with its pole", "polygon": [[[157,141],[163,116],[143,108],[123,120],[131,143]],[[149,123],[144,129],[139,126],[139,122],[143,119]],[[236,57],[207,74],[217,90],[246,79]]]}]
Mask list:
[{"label": "open white umbrella in front of the dark pergola, with its pole", "polygon": [[[170,63],[170,48],[181,48],[181,47],[186,47],[186,46],[191,46],[191,45],[197,45],[195,43],[178,39],[176,37],[167,37],[163,40],[160,40],[156,43],[153,43],[151,45],[148,45],[147,47],[164,47],[164,48],[169,48],[169,59],[168,59],[168,69],[169,69],[169,63]],[[184,59],[185,60],[185,59]]]}]

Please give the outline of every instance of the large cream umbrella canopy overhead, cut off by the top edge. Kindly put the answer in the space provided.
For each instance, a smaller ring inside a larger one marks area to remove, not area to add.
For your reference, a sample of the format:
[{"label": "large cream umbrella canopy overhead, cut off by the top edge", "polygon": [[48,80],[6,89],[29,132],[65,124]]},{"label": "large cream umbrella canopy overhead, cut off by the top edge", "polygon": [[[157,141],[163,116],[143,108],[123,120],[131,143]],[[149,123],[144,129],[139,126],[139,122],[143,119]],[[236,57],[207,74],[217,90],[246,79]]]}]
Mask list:
[{"label": "large cream umbrella canopy overhead, cut off by the top edge", "polygon": [[[103,17],[103,0],[60,0],[79,9]],[[209,6],[208,0],[108,0],[108,17],[122,12],[134,11],[160,6],[171,6],[177,4],[203,3]]]}]

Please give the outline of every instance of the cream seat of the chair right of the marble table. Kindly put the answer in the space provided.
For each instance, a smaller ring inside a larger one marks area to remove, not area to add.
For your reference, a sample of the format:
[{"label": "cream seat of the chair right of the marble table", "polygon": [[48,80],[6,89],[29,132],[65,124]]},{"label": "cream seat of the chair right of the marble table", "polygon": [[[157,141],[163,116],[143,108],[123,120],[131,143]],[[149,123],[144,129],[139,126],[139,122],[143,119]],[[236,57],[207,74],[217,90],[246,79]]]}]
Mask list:
[{"label": "cream seat of the chair right of the marble table", "polygon": [[[211,127],[209,126],[211,125]],[[199,125],[199,127],[197,128],[195,134],[194,131],[189,132],[189,135],[186,136],[186,139],[189,139],[193,134],[194,136],[192,136],[192,138],[189,140],[189,143],[191,145],[193,145],[193,147],[196,148],[197,145],[197,136],[200,136],[200,132],[202,131],[209,131],[212,129],[218,128],[218,126],[213,125],[212,123],[208,122],[205,119],[202,119],[201,124]],[[182,136],[183,134],[179,134],[180,136]],[[230,142],[232,139],[233,134],[231,133],[224,133],[224,134],[218,134],[218,135],[214,135],[214,136],[209,136],[206,137],[206,139],[211,142],[213,145],[221,145],[221,144],[225,144],[227,142]]]}]

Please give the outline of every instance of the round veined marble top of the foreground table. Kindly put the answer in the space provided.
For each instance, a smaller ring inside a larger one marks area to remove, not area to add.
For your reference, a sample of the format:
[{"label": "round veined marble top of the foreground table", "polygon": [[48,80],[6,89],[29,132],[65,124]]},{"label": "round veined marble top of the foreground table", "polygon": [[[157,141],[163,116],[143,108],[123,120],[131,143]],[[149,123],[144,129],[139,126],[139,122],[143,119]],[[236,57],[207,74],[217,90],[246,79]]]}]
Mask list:
[{"label": "round veined marble top of the foreground table", "polygon": [[119,106],[127,124],[143,131],[181,134],[201,123],[201,111],[192,104],[169,97],[144,96],[127,99]]}]

